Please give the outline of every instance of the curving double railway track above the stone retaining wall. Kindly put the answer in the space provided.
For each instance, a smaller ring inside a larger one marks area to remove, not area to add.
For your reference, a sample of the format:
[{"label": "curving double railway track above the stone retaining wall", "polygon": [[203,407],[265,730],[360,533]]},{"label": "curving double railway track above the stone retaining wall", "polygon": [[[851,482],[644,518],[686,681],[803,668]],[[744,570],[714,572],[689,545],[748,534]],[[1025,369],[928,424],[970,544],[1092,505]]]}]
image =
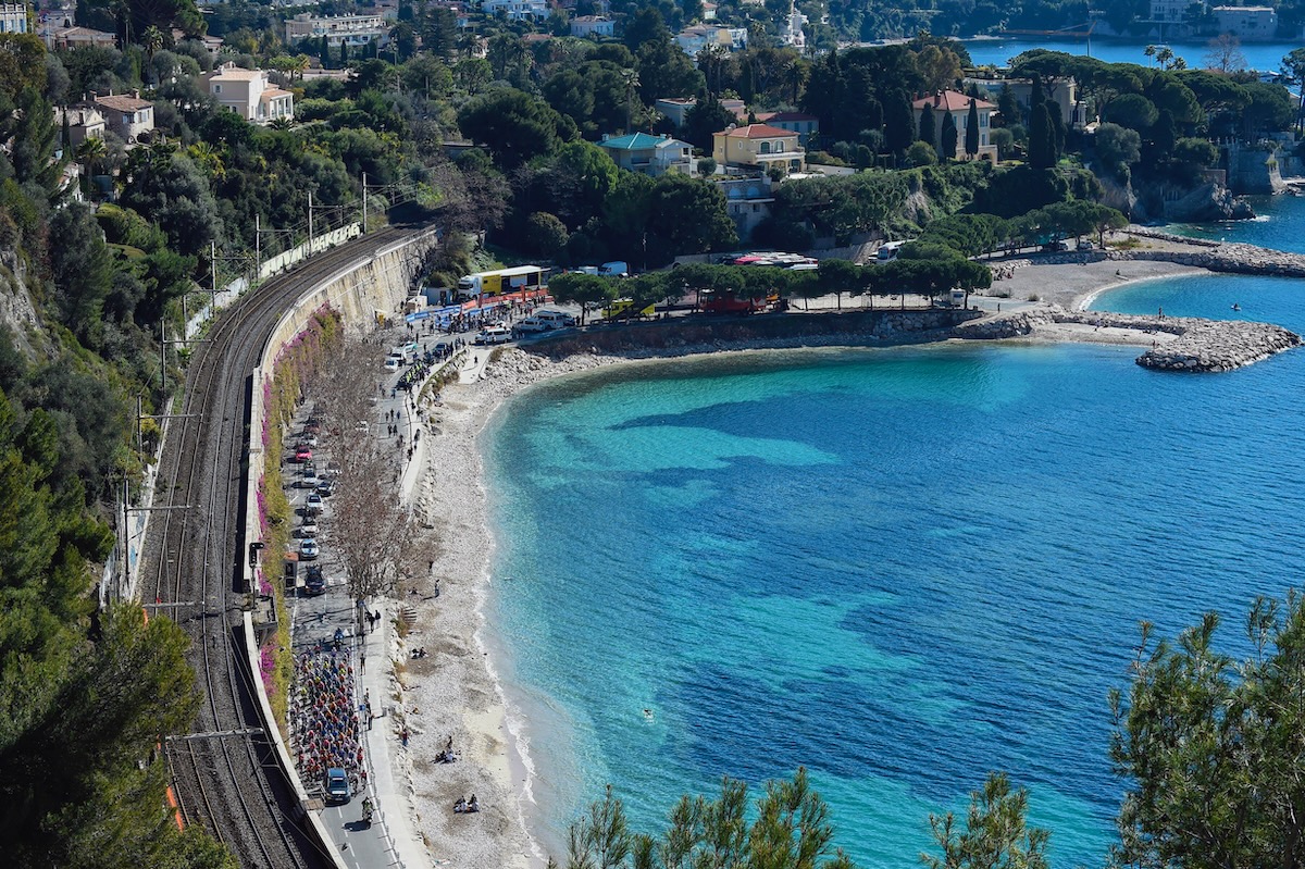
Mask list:
[{"label": "curving double railway track above the stone retaining wall", "polygon": [[167,615],[191,635],[188,658],[204,692],[192,733],[168,741],[172,784],[187,823],[206,827],[251,869],[328,865],[296,818],[294,793],[257,729],[254,686],[243,662],[251,371],[277,320],[304,290],[418,232],[388,227],[312,257],[222,312],[192,358],[184,408],[161,457],[154,506],[184,509],[163,510],[150,522],[142,595],[153,583],[155,600],[170,605]]}]

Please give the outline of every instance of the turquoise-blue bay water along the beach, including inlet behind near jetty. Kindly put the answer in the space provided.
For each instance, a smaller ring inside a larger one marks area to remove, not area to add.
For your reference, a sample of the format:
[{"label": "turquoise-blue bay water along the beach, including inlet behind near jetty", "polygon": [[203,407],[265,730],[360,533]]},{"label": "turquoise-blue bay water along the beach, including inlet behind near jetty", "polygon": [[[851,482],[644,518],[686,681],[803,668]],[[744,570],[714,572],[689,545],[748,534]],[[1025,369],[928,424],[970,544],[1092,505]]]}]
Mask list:
[{"label": "turquoise-blue bay water along the beach, including inlet behind near jetty", "polygon": [[[1302,299],[1214,278],[1100,304],[1305,329]],[[763,352],[517,397],[485,448],[488,615],[545,844],[608,782],[651,831],[723,774],[805,765],[859,864],[915,866],[929,812],[1006,770],[1053,865],[1100,866],[1137,622],[1219,609],[1236,650],[1253,596],[1305,572],[1305,352],[1134,355]]]}]

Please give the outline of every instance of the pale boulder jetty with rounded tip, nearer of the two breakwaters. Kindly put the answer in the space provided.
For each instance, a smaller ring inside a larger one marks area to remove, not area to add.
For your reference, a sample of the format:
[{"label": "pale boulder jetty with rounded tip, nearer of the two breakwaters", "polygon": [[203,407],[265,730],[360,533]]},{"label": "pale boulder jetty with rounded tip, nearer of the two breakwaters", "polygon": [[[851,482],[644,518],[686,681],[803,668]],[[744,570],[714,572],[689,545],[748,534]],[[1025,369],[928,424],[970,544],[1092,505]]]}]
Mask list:
[{"label": "pale boulder jetty with rounded tip, nearer of the two breakwaters", "polygon": [[[1167,333],[1177,338],[1138,356],[1144,368],[1178,372],[1233,371],[1301,346],[1300,335],[1265,322],[1201,320],[1199,317],[1160,317],[1120,314],[1105,311],[1065,311],[1039,305],[960,324],[951,330],[957,338],[1001,339],[1035,335],[1040,326],[1079,324],[1082,326],[1129,329],[1141,333]],[[1092,341],[1083,331],[1083,341]]]}]

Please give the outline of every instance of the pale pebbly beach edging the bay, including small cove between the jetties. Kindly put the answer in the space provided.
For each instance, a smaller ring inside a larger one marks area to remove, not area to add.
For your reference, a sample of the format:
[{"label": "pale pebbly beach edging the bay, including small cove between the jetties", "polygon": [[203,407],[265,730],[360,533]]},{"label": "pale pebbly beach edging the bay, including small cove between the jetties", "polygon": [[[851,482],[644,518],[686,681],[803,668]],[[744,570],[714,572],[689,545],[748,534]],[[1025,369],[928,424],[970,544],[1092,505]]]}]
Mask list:
[{"label": "pale pebbly beach edging the bay, including small cove between the jetties", "polygon": [[[1039,303],[1075,309],[1126,282],[1195,273],[1205,271],[1151,261],[1028,265],[994,283],[989,297],[980,301],[994,311],[988,303],[1014,307],[1023,301],[1027,307],[1028,296],[1036,295]],[[1151,346],[1156,335],[1058,324],[1023,341],[1030,339]],[[710,351],[681,347],[676,355]],[[397,758],[395,778],[406,783],[412,800],[414,829],[433,865],[534,869],[543,866],[548,855],[527,834],[526,818],[532,814],[529,745],[509,732],[502,688],[484,642],[493,540],[478,441],[495,410],[517,391],[562,373],[629,360],[586,354],[553,363],[506,348],[485,365],[488,354],[475,356],[478,364],[465,363],[462,382],[445,388],[438,402],[423,407],[427,467],[415,506],[436,528],[440,553],[429,575],[415,590],[402,590],[398,602],[415,611],[415,624],[395,650],[402,688],[390,698],[401,707],[410,739],[407,748],[395,745],[392,757]],[[422,568],[419,573],[425,574],[425,565]],[[410,659],[408,652],[419,647],[428,656]],[[435,758],[450,737],[459,761],[437,763]],[[454,801],[472,793],[482,812],[454,814]]]}]

